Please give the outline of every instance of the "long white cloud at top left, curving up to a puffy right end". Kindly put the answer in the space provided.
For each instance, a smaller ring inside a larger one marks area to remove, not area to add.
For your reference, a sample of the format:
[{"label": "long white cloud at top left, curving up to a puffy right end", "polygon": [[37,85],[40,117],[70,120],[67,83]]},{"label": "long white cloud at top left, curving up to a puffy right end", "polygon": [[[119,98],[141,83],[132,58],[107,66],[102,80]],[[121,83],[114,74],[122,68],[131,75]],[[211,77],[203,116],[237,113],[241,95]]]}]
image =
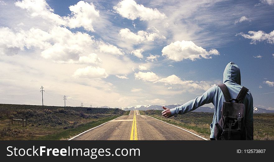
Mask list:
[{"label": "long white cloud at top left, curving up to a puffy right end", "polygon": [[71,14],[64,17],[55,14],[45,0],[22,0],[15,2],[15,5],[26,9],[32,17],[41,17],[54,25],[63,25],[69,28],[83,26],[87,31],[94,31],[92,24],[99,17],[99,11],[95,9],[95,6],[84,1],[69,6]]}]

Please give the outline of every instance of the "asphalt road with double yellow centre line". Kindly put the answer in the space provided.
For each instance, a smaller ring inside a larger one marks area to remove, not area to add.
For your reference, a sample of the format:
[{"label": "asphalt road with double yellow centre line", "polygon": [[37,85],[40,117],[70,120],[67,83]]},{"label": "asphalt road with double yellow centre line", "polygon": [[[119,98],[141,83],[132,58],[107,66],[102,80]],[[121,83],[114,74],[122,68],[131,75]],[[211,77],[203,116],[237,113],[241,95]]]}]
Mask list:
[{"label": "asphalt road with double yellow centre line", "polygon": [[119,117],[70,140],[204,140],[139,111]]}]

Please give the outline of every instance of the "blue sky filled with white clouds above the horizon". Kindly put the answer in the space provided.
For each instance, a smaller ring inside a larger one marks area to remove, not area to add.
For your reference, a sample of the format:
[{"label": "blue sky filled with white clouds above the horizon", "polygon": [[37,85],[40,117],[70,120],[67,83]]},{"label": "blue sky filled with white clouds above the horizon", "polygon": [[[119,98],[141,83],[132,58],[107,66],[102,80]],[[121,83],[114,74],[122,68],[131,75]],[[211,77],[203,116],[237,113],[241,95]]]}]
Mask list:
[{"label": "blue sky filled with white clouds above the horizon", "polygon": [[[0,0],[0,102],[185,103],[241,69],[274,110],[274,1]],[[212,105],[207,105],[212,106]]]}]

